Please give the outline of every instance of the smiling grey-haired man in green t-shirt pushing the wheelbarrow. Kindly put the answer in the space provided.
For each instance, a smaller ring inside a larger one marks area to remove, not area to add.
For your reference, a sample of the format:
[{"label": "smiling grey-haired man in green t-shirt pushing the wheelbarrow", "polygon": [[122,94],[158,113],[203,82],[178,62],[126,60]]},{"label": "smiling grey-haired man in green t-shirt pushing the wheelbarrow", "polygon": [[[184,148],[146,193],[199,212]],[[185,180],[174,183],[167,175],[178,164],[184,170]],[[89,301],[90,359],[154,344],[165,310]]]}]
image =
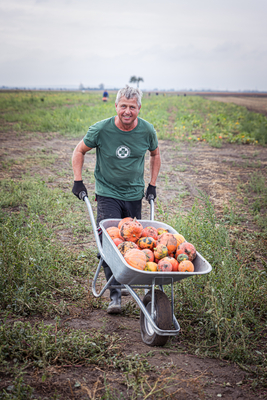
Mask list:
[{"label": "smiling grey-haired man in green t-shirt pushing the wheelbarrow", "polygon": [[[156,198],[156,180],[160,170],[160,152],[153,125],[138,118],[142,92],[128,85],[117,93],[117,115],[92,125],[83,140],[76,146],[72,166],[74,186],[72,192],[87,190],[82,181],[82,167],[87,151],[96,148],[95,193],[97,200],[97,225],[103,219],[136,217],[141,219],[144,197],[144,161],[150,151],[150,183],[146,190]],[[112,272],[103,262],[106,279]],[[119,285],[115,280],[113,285]],[[121,312],[121,290],[110,289],[111,302],[107,312]]]}]

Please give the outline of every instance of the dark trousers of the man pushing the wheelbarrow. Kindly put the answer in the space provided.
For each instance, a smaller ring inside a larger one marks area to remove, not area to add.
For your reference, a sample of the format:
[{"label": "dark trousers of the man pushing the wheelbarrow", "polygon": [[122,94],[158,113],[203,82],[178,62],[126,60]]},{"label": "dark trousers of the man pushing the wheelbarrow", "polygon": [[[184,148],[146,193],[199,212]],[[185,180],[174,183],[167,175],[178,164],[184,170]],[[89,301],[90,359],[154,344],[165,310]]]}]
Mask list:
[{"label": "dark trousers of the man pushing the wheelbarrow", "polygon": [[[137,219],[141,219],[142,212],[142,200],[136,201],[124,201],[117,200],[111,197],[104,197],[96,195],[97,200],[97,218],[96,223],[99,226],[100,221],[103,219],[113,219],[113,218],[126,218],[126,217],[136,217]],[[100,241],[102,243],[102,234],[100,235]],[[112,275],[112,271],[109,268],[108,264],[103,261],[104,273],[106,276],[106,280],[108,281]],[[119,282],[114,278],[111,282],[112,285],[120,285]],[[110,289],[110,297],[114,293],[118,293],[120,296],[119,289]]]}]

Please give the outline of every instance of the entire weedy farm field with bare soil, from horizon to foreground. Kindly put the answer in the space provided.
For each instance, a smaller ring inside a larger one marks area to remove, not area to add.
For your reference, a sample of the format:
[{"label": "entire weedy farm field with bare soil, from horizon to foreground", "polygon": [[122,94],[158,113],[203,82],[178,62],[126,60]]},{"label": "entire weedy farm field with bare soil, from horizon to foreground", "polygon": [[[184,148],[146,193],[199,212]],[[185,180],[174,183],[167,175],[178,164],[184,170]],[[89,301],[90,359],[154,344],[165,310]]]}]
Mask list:
[{"label": "entire weedy farm field with bare soil, from horizon to foreground", "polygon": [[129,296],[114,316],[93,297],[97,249],[71,193],[72,151],[114,100],[0,93],[0,399],[266,398],[267,97],[144,95],[162,156],[155,219],[213,267],[175,285],[181,332],[163,348],[141,341]]}]

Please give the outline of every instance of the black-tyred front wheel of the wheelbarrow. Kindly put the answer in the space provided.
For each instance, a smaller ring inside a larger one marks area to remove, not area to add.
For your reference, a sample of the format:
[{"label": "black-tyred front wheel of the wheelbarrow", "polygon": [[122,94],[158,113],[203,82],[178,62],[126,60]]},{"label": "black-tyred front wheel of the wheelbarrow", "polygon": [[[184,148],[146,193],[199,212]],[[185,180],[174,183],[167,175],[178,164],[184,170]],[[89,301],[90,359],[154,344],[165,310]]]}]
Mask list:
[{"label": "black-tyred front wheel of the wheelbarrow", "polygon": [[[161,290],[155,290],[154,322],[160,329],[169,330],[172,325],[172,310],[168,297]],[[143,299],[144,306],[151,315],[151,290]],[[160,336],[155,333],[152,325],[141,311],[140,315],[141,337],[148,346],[164,346],[169,336]]]}]

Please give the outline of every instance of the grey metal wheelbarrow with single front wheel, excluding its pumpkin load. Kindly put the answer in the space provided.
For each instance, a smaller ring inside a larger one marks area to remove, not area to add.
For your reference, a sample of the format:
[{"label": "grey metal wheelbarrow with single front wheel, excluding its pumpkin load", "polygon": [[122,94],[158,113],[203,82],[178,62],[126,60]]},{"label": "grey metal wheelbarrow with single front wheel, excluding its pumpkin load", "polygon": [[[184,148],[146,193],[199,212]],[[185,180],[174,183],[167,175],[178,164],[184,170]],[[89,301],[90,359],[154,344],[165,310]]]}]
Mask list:
[{"label": "grey metal wheelbarrow with single front wheel, excluding its pumpkin load", "polygon": [[[107,233],[111,226],[118,226],[120,219],[105,219],[100,222],[100,227],[96,227],[93,210],[85,192],[80,196],[86,203],[93,232],[100,254],[100,260],[92,282],[92,291],[95,297],[101,297],[107,289],[126,288],[140,307],[140,330],[143,342],[149,346],[164,346],[169,336],[175,336],[180,331],[180,325],[174,315],[174,291],[173,285],[177,281],[193,275],[207,274],[212,270],[211,265],[197,252],[193,261],[194,272],[151,272],[141,271],[131,267],[117,249],[113,240]],[[150,202],[150,220],[141,219],[139,222],[144,228],[153,226],[156,229],[163,227],[170,233],[178,233],[171,226],[154,221],[154,199]],[[99,234],[102,232],[102,244]],[[103,260],[109,265],[112,276],[98,292],[96,282],[101,270]],[[112,285],[113,277],[120,285]],[[163,286],[171,285],[170,299],[164,293]],[[156,289],[156,286],[158,289]],[[137,294],[137,289],[144,289],[143,299]]]}]

